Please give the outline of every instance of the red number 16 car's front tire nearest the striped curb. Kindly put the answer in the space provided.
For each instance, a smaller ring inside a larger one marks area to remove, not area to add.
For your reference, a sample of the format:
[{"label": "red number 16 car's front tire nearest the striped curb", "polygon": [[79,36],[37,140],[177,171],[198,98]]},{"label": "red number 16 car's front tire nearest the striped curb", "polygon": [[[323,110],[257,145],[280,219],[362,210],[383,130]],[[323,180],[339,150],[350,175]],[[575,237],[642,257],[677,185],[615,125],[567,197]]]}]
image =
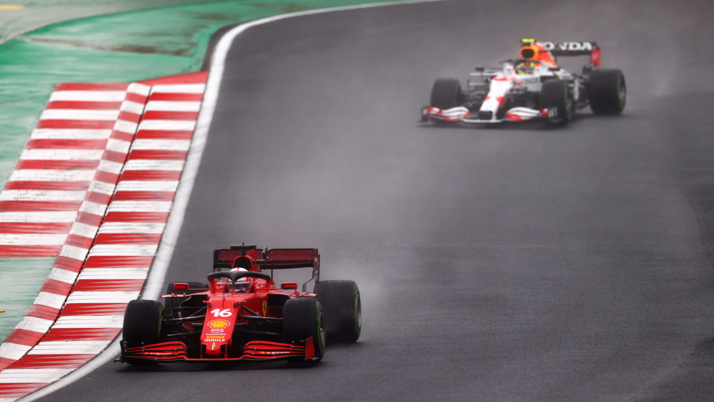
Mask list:
[{"label": "red number 16 car's front tire nearest the striped curb", "polygon": [[[156,300],[131,300],[124,313],[123,340],[128,348],[151,345],[161,341],[161,317],[164,306]],[[134,366],[153,366],[157,361],[127,358]]]}]

